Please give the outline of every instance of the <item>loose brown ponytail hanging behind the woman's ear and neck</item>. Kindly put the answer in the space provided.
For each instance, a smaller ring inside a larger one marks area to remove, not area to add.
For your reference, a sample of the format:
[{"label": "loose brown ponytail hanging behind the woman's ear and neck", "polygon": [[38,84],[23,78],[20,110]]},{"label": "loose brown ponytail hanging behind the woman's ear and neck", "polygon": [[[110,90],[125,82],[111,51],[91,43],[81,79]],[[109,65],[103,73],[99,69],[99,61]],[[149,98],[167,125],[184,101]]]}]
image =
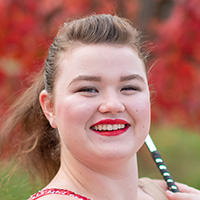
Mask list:
[{"label": "loose brown ponytail hanging behind the woman's ear and neck", "polygon": [[33,85],[14,103],[0,130],[0,159],[17,158],[29,172],[48,182],[60,165],[59,137],[44,116],[39,95],[44,69]]}]

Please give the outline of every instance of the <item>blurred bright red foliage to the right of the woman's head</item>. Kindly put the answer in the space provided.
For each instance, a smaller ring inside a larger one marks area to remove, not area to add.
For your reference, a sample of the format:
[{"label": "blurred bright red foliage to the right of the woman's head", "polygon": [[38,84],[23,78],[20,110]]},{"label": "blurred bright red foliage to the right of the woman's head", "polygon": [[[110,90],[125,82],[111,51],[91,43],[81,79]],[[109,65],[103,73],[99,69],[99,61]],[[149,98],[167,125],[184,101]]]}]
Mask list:
[{"label": "blurred bright red foliage to the right of the woman's head", "polygon": [[200,1],[180,1],[159,24],[150,80],[157,92],[153,119],[198,127],[200,120]]}]

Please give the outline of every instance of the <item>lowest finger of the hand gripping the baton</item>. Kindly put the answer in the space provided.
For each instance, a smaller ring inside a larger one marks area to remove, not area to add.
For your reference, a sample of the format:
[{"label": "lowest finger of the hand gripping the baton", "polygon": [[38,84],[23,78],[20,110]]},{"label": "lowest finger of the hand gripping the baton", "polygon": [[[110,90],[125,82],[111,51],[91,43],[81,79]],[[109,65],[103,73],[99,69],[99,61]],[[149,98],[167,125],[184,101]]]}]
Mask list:
[{"label": "lowest finger of the hand gripping the baton", "polygon": [[173,193],[169,190],[166,191],[166,196],[169,200],[199,200],[198,194],[191,194],[191,193]]}]

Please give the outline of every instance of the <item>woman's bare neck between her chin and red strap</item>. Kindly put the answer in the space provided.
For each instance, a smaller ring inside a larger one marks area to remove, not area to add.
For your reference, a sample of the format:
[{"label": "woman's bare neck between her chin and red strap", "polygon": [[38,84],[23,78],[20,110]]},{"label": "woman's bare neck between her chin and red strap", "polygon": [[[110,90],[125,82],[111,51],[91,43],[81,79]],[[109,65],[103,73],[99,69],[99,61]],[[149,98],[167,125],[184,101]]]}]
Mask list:
[{"label": "woman's bare neck between her chin and red strap", "polygon": [[73,157],[61,159],[57,176],[48,187],[69,189],[91,199],[137,199],[138,171],[136,155],[98,165],[86,166]]}]

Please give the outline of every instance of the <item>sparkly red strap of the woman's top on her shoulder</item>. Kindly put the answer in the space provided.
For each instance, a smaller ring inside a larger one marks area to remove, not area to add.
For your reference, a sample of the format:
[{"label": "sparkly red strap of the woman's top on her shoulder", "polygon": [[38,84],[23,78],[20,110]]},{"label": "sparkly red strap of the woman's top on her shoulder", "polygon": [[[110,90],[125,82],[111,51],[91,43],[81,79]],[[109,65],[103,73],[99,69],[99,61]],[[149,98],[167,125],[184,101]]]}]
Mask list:
[{"label": "sparkly red strap of the woman's top on her shoulder", "polygon": [[59,194],[59,195],[66,195],[66,196],[70,196],[70,197],[76,197],[76,198],[82,199],[82,200],[91,200],[91,199],[83,197],[79,194],[76,194],[74,192],[71,192],[69,190],[57,189],[57,188],[41,190],[38,193],[33,194],[28,200],[36,200],[36,199],[39,199],[40,197],[43,197],[43,196],[46,196],[49,194]]}]

